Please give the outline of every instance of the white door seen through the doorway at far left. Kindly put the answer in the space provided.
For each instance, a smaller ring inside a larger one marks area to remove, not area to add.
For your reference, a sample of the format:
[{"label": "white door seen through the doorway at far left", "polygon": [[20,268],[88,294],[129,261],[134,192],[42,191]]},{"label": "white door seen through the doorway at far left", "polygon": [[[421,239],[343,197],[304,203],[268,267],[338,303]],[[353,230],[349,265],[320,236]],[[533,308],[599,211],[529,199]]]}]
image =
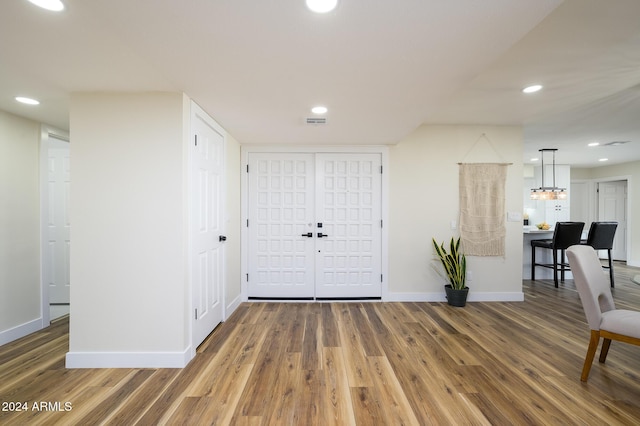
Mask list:
[{"label": "white door seen through the doorway at far left", "polygon": [[47,194],[49,199],[47,200],[46,275],[49,282],[49,303],[68,305],[71,246],[69,142],[50,137],[47,151]]}]

